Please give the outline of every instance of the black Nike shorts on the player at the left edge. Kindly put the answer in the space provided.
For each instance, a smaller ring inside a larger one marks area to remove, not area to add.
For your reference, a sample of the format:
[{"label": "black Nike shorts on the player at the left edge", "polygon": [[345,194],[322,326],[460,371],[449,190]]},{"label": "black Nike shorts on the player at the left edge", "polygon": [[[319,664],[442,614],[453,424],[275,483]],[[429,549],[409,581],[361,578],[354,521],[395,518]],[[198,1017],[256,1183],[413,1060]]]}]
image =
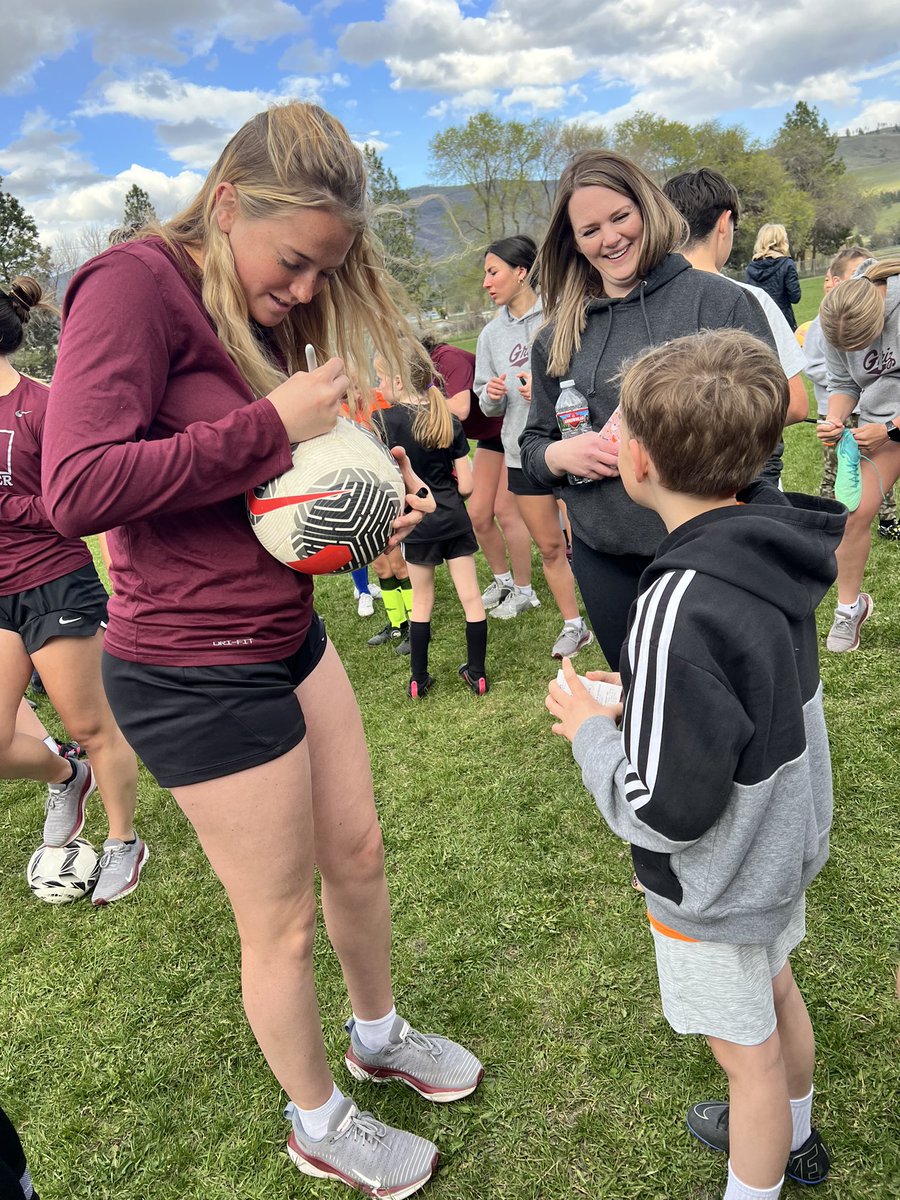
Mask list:
[{"label": "black Nike shorts on the player at the left edge", "polygon": [[0,629],[12,630],[29,654],[52,637],[94,637],[107,625],[107,589],[94,563],[49,583],[0,596]]}]

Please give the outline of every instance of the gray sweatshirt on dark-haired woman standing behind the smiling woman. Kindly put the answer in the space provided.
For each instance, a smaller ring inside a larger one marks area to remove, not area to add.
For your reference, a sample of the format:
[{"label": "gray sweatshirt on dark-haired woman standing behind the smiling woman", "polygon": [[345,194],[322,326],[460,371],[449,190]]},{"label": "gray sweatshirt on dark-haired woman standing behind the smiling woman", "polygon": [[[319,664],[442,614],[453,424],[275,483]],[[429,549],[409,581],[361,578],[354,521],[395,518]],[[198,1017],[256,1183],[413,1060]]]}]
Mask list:
[{"label": "gray sweatshirt on dark-haired woman standing behind the smiling woman", "polygon": [[[504,305],[479,334],[475,347],[473,389],[485,416],[503,416],[504,458],[508,467],[521,467],[518,436],[528,420],[530,404],[518,395],[518,376],[532,370],[532,342],[544,319],[540,296],[522,317],[514,317]],[[487,395],[487,380],[506,376],[506,395],[494,402]]]}]

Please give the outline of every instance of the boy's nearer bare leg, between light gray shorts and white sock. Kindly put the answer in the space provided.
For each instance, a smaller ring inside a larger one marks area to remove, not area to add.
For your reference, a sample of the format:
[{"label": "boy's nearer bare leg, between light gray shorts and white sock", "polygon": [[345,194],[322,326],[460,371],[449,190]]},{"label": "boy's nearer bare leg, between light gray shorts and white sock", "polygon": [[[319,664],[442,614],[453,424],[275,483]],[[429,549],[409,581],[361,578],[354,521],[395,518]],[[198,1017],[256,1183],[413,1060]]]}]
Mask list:
[{"label": "boy's nearer bare leg, between light gray shorts and white sock", "polygon": [[774,1188],[791,1153],[791,1104],[778,1031],[761,1045],[707,1038],[728,1076],[728,1160],[750,1188]]}]

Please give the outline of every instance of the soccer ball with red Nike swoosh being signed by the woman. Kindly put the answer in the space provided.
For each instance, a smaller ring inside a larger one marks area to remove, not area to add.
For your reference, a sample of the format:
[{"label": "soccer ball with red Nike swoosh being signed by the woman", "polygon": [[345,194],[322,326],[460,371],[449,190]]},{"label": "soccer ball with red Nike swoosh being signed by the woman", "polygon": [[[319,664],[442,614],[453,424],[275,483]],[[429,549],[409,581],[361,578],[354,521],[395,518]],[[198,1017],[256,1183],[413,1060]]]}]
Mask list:
[{"label": "soccer ball with red Nike swoosh being signed by the woman", "polygon": [[374,434],[338,418],[330,433],[299,442],[283,475],[247,492],[262,545],[295,571],[355,571],[384,552],[406,490]]}]

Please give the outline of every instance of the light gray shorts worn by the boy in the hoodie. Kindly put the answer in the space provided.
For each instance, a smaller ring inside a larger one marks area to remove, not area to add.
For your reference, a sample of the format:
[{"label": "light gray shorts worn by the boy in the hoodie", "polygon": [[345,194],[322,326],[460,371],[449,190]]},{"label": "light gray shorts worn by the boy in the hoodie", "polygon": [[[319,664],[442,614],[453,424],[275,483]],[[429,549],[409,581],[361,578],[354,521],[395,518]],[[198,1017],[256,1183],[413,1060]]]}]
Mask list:
[{"label": "light gray shorts worn by the boy in the hoodie", "polygon": [[806,898],[787,928],[764,946],[688,942],[650,925],[662,1012],[676,1033],[760,1045],[775,1032],[772,980],[806,935]]}]

